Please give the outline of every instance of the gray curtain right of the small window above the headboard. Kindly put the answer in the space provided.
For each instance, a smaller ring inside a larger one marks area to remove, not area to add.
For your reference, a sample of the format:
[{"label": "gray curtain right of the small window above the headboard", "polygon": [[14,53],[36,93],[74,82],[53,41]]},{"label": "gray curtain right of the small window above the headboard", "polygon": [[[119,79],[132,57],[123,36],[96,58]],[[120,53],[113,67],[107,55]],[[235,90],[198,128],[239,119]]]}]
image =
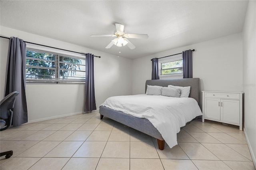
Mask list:
[{"label": "gray curtain right of the small window above the headboard", "polygon": [[191,49],[182,52],[182,60],[183,60],[183,78],[193,78]]}]

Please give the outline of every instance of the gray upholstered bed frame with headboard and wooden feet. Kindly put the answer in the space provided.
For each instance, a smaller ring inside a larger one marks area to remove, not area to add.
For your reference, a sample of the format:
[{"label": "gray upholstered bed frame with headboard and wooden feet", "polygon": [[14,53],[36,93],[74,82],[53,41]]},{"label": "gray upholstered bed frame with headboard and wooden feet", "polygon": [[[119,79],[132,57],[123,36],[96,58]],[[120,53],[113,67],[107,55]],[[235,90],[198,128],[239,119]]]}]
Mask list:
[{"label": "gray upholstered bed frame with headboard and wooden feet", "polygon": [[[175,86],[190,86],[190,95],[196,99],[199,103],[199,78],[187,78],[187,79],[164,79],[164,80],[147,80],[145,85],[145,92],[147,90],[147,85],[158,85],[162,87],[167,87],[168,85]],[[160,150],[164,149],[164,138],[160,132],[152,125],[148,119],[134,117],[132,115],[128,115],[121,111],[115,111],[109,109],[108,107],[100,106],[100,119],[103,119],[103,116],[106,116],[114,121],[122,123],[128,127],[134,128],[140,132],[148,134],[157,139],[158,148]]]}]

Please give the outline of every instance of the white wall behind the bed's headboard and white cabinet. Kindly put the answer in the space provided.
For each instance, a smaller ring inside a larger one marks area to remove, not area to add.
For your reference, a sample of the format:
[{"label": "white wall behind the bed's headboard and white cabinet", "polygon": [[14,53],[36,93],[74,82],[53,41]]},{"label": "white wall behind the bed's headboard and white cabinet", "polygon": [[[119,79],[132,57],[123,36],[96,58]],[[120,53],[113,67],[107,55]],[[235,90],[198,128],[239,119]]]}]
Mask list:
[{"label": "white wall behind the bed's headboard and white cabinet", "polygon": [[239,33],[134,59],[132,94],[145,93],[145,82],[151,79],[150,59],[187,49],[195,49],[193,77],[200,78],[200,91],[242,91],[242,34]]}]

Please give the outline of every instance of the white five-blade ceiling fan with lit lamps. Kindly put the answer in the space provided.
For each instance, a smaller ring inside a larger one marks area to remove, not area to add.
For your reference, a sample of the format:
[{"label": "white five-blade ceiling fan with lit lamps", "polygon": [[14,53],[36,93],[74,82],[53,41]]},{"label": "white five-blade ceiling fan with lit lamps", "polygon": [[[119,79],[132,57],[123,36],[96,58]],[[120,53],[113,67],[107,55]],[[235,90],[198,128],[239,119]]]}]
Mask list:
[{"label": "white five-blade ceiling fan with lit lamps", "polygon": [[127,38],[139,38],[139,39],[147,39],[147,34],[126,34],[124,30],[124,26],[122,24],[116,24],[116,30],[113,35],[91,35],[91,37],[116,37],[112,40],[106,48],[112,47],[112,45],[116,45],[118,47],[122,47],[127,45],[130,49],[134,49],[135,46],[127,39]]}]

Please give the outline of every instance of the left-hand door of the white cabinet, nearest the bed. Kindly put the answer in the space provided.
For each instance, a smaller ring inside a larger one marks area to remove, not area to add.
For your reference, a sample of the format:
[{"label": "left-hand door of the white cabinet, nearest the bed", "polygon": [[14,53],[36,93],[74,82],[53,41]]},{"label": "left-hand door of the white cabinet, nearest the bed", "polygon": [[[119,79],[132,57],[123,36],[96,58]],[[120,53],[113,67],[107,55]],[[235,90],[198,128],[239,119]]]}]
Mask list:
[{"label": "left-hand door of the white cabinet, nearest the bed", "polygon": [[220,99],[204,98],[204,117],[220,121]]}]

